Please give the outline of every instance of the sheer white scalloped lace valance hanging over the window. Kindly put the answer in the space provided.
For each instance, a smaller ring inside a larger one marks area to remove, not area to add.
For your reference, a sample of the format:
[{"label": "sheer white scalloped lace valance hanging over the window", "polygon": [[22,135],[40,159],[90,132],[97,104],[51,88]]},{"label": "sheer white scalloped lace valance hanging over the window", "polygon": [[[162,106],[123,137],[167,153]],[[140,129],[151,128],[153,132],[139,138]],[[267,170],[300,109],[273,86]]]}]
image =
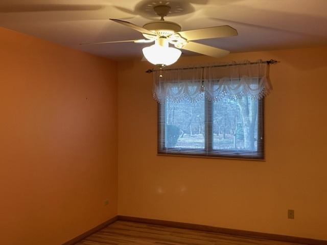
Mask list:
[{"label": "sheer white scalloped lace valance hanging over the window", "polygon": [[272,89],[269,64],[256,62],[215,63],[205,66],[189,66],[153,72],[153,98],[158,102],[167,99],[219,101],[224,97],[239,99],[250,96],[261,99]]}]

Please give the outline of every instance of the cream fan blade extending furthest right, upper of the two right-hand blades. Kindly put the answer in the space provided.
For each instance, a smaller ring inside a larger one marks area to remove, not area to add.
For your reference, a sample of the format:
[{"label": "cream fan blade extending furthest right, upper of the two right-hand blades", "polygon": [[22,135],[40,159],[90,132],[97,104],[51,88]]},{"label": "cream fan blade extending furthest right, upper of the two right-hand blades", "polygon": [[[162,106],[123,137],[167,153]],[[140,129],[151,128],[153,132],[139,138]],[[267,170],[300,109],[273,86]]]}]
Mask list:
[{"label": "cream fan blade extending furthest right, upper of the two right-hand blades", "polygon": [[177,33],[189,41],[238,35],[237,30],[230,26],[209,27]]}]

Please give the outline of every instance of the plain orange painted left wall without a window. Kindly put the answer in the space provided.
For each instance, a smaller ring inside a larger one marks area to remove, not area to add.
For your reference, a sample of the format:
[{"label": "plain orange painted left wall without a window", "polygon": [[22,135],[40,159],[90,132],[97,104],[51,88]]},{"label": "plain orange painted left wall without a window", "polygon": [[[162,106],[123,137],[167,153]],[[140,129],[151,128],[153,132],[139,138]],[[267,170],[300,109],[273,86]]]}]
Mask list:
[{"label": "plain orange painted left wall without a window", "polygon": [[1,244],[62,244],[117,214],[116,63],[3,28],[0,44]]}]

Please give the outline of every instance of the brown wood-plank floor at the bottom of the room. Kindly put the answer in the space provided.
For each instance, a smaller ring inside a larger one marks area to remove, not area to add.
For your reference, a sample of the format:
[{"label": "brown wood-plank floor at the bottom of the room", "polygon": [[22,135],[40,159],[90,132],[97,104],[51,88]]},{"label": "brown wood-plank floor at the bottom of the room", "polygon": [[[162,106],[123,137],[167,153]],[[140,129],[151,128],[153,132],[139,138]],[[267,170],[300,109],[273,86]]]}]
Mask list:
[{"label": "brown wood-plank floor at the bottom of the room", "polygon": [[296,243],[231,236],[213,232],[203,232],[116,221],[101,231],[85,238],[76,245],[295,245]]}]

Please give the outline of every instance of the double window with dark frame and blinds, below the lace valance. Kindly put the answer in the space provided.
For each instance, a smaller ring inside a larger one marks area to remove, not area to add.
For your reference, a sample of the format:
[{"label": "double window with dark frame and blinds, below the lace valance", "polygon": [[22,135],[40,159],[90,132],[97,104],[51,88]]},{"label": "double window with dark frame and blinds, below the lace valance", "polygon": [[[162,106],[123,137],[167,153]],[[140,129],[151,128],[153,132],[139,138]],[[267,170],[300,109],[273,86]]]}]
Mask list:
[{"label": "double window with dark frame and blinds, below the lace valance", "polygon": [[158,154],[264,159],[264,100],[204,93],[158,104]]}]

